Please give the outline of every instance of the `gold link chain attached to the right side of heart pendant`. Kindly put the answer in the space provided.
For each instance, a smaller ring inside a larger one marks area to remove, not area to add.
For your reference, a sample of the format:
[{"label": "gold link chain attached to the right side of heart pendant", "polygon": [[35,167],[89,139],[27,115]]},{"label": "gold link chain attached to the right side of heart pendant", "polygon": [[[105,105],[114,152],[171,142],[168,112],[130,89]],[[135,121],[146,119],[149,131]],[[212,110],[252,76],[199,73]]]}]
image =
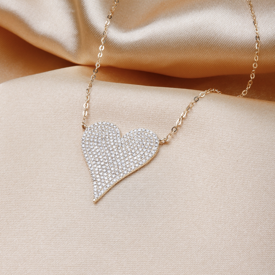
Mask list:
[{"label": "gold link chain attached to the right side of heart pendant", "polygon": [[[255,32],[256,32],[255,48],[256,48],[256,52],[255,52],[255,56],[254,56],[254,63],[252,65],[253,70],[250,74],[250,80],[248,81],[246,89],[243,90],[243,92],[240,95],[238,95],[238,97],[244,97],[248,93],[248,90],[250,89],[250,87],[252,85],[252,79],[254,79],[254,77],[255,77],[255,69],[258,67],[257,61],[259,59],[259,50],[260,50],[260,36],[259,36],[258,25],[257,25],[257,22],[256,22],[256,16],[255,16],[255,13],[254,13],[254,10],[253,10],[251,0],[247,0],[247,2],[248,2],[248,5],[250,7],[250,12],[251,12],[253,23],[254,23],[254,26],[255,26]],[[166,136],[166,138],[160,139],[160,144],[163,144],[163,143],[169,141],[169,139],[172,137],[172,134],[174,134],[177,131],[178,126],[180,126],[182,124],[182,120],[186,117],[187,113],[193,107],[194,103],[196,103],[199,100],[199,98],[204,97],[205,94],[209,94],[211,92],[214,92],[214,93],[216,92],[218,94],[221,94],[221,92],[216,90],[216,89],[209,89],[209,90],[205,90],[204,92],[200,93],[200,95],[198,97],[195,97],[194,100],[189,103],[187,108],[180,115],[180,118],[177,120],[176,125],[172,127],[171,132]]]}]

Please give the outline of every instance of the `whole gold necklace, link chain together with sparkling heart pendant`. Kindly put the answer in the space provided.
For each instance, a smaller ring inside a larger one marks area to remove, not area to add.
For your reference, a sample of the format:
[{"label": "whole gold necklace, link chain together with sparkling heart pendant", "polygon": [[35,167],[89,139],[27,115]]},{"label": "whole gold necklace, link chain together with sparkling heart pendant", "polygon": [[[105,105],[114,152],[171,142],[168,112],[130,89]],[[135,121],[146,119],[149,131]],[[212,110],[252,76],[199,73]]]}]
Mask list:
[{"label": "whole gold necklace, link chain together with sparkling heart pendant", "polygon": [[[191,108],[203,98],[206,94],[211,92],[221,94],[219,90],[208,89],[201,92],[197,97],[191,101],[186,109],[182,112],[175,125],[165,138],[159,139],[158,136],[149,129],[137,128],[129,131],[121,137],[119,128],[110,122],[95,122],[90,126],[86,126],[87,110],[89,107],[90,90],[95,79],[95,75],[100,67],[102,51],[104,50],[104,43],[106,42],[107,30],[110,20],[114,14],[119,0],[114,0],[114,5],[107,16],[103,37],[101,38],[101,45],[99,47],[98,60],[95,64],[94,73],[91,76],[91,81],[88,83],[86,90],[85,103],[83,105],[83,120],[82,128],[84,133],[81,140],[81,148],[84,158],[88,165],[90,174],[92,176],[93,184],[93,201],[97,202],[103,197],[116,183],[127,177],[134,171],[138,170],[145,164],[149,163],[158,152],[160,146],[168,142],[172,135],[178,130],[183,120],[186,118]],[[247,0],[253,23],[256,32],[255,42],[255,56],[253,62],[253,70],[250,75],[247,87],[238,97],[243,97],[248,93],[252,85],[252,80],[255,77],[255,69],[258,67],[260,37],[256,22],[255,13],[252,6],[252,0]]]}]

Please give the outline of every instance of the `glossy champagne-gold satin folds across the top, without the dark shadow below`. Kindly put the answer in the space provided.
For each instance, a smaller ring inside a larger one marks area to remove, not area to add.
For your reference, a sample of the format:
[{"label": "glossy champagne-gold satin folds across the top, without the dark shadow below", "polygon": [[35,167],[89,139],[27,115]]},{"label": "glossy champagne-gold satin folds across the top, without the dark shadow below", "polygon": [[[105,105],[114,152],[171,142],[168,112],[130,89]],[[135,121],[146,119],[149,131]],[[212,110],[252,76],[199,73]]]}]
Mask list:
[{"label": "glossy champagne-gold satin folds across the top, without the dark shadow below", "polygon": [[[94,65],[110,0],[1,0],[0,25],[32,45]],[[259,23],[258,73],[275,72],[275,3],[253,1]],[[103,66],[198,78],[249,74],[255,32],[246,0],[120,1]]]}]

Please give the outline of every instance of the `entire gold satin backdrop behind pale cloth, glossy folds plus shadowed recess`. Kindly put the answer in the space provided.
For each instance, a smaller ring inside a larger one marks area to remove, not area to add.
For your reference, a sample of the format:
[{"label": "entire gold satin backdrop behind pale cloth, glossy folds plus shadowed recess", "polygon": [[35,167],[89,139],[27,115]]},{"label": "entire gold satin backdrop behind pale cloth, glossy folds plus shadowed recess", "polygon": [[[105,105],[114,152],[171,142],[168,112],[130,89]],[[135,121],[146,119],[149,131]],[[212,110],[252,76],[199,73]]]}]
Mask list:
[{"label": "entire gold satin backdrop behind pale cloth, glossy folds plus shadowed recess", "polygon": [[[94,65],[110,4],[0,1],[1,81],[68,67],[70,62]],[[275,3],[261,0],[253,5],[261,51],[247,97],[274,101]],[[117,70],[105,70],[97,79],[198,90],[215,87],[238,95],[252,70],[254,34],[246,1],[120,2],[101,62]]]}]

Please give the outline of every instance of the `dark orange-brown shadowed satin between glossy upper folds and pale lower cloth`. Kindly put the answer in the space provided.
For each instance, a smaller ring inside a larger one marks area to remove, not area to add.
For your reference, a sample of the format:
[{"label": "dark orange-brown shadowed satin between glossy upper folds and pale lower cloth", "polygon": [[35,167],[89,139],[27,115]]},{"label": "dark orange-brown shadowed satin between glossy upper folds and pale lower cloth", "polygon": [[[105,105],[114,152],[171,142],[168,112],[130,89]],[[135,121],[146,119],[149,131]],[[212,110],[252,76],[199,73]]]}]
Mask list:
[{"label": "dark orange-brown shadowed satin between glossy upper folds and pale lower cloth", "polygon": [[[38,49],[0,27],[0,83],[35,73],[76,64]],[[239,95],[249,75],[223,75],[207,78],[177,78],[156,73],[114,67],[100,67],[97,79],[116,83],[205,90],[215,88],[223,94]],[[86,82],[89,81],[87,77]],[[275,101],[275,73],[256,74],[247,98]]]}]

